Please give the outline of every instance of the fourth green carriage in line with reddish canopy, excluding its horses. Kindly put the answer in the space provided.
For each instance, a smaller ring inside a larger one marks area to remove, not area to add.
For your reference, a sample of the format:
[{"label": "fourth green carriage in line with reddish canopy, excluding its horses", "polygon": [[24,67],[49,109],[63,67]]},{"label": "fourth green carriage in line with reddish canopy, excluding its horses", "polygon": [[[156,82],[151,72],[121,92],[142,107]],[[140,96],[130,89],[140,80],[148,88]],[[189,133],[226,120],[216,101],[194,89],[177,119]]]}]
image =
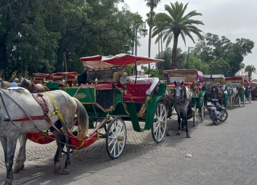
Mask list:
[{"label": "fourth green carriage in line with reddish canopy, excluding its horses", "polygon": [[236,92],[235,98],[233,103],[237,103],[238,106],[243,105],[245,106],[246,100],[246,87],[244,86],[243,77],[227,77],[225,78],[226,85],[232,86]]}]

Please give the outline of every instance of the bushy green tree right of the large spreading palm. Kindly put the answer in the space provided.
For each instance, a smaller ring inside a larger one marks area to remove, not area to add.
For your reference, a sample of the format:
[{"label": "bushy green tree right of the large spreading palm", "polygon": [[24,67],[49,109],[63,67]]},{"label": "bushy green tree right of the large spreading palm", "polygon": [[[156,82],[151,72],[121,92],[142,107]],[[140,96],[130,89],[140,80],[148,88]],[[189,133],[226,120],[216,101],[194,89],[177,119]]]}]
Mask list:
[{"label": "bushy green tree right of the large spreading palm", "polygon": [[209,72],[235,76],[242,69],[244,57],[251,53],[254,42],[249,39],[236,39],[231,42],[226,36],[221,39],[213,33],[206,33],[204,40],[198,40],[195,51],[203,64],[210,66]]}]

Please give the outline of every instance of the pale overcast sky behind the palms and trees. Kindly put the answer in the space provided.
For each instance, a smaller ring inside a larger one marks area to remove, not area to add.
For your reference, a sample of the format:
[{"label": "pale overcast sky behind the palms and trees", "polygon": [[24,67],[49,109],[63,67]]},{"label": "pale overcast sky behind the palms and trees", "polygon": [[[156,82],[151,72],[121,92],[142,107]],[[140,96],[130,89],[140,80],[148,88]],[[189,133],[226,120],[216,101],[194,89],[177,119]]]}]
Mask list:
[{"label": "pale overcast sky behind the palms and trees", "polygon": [[[166,12],[164,5],[170,5],[170,0],[161,0],[160,4],[154,10],[156,13]],[[175,1],[172,1],[173,3]],[[255,43],[255,47],[251,54],[245,57],[243,63],[246,65],[253,64],[257,67],[257,1],[256,0],[180,0],[179,3],[188,4],[188,12],[196,10],[203,14],[203,16],[195,16],[195,20],[204,22],[204,26],[198,26],[204,33],[214,33],[221,36],[226,36],[231,42],[235,42],[237,38],[250,39]],[[124,4],[127,4],[132,12],[138,12],[143,21],[146,20],[146,13],[150,11],[150,8],[145,6],[144,0],[124,0]],[[119,5],[121,7],[122,4]],[[187,12],[186,12],[187,13]],[[193,33],[192,33],[193,35]],[[196,36],[194,36],[196,40]],[[155,57],[158,53],[158,45],[154,44],[155,40],[152,40],[151,57]],[[142,44],[138,48],[138,55],[148,56],[148,36],[140,39]],[[186,38],[186,44],[183,43],[181,37],[178,39],[178,47],[187,51],[188,46],[194,46],[193,42]],[[172,47],[171,42],[170,47]],[[257,78],[257,75],[254,75]]]}]

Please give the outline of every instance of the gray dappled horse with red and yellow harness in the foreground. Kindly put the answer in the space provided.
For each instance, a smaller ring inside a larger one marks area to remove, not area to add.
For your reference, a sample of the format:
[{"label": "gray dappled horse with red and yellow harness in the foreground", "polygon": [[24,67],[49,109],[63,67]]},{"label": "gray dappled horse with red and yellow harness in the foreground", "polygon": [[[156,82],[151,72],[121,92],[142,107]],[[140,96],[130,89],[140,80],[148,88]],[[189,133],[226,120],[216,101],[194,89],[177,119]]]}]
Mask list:
[{"label": "gray dappled horse with red and yellow harness in the foreground", "polygon": [[[26,90],[21,89],[0,89],[0,93],[2,98],[0,99],[0,130],[5,132],[0,132],[0,140],[3,146],[4,154],[5,154],[5,164],[7,170],[7,176],[5,184],[11,184],[13,180],[13,156],[15,153],[15,147],[17,138],[20,135],[24,135],[26,133],[34,133],[46,130],[51,125],[45,120],[34,120],[33,123],[31,121],[16,121],[14,124],[10,121],[17,118],[24,118],[27,117],[25,111],[29,113],[29,116],[42,116],[44,115],[42,107],[39,105],[38,102],[33,98],[32,94],[28,93]],[[50,98],[45,94],[42,93],[44,98],[48,101],[49,106],[49,113],[54,112],[55,108],[53,106],[52,101]],[[88,131],[88,116],[85,110],[85,107],[79,102],[76,98],[70,97],[65,91],[63,90],[53,90],[49,91],[49,94],[53,97],[56,101],[57,106],[60,110],[60,113],[63,116],[65,126],[63,126],[63,132],[67,136],[68,135],[68,126],[72,125],[74,122],[75,114],[78,116],[78,125],[80,127],[80,133],[78,137],[84,137]],[[12,99],[15,99],[15,102],[25,110],[23,111],[17,104],[14,103]],[[4,101],[3,101],[4,100]],[[7,111],[6,111],[7,109]],[[9,114],[9,116],[8,116]],[[60,120],[57,114],[53,114],[52,116],[48,117],[52,123],[56,123]],[[38,130],[35,128],[37,127]],[[54,130],[53,134],[56,138],[61,141],[65,138],[66,143],[69,143],[69,137],[64,137],[63,134]],[[16,157],[14,171],[19,172],[24,168],[24,161],[26,160],[26,137],[22,137],[20,139],[20,150]],[[58,148],[56,155],[54,156],[54,173],[60,171],[60,158],[61,153],[64,147],[63,143],[57,142]],[[69,151],[70,146],[66,145],[67,147],[67,156],[65,161],[65,168],[64,173],[69,173]]]}]

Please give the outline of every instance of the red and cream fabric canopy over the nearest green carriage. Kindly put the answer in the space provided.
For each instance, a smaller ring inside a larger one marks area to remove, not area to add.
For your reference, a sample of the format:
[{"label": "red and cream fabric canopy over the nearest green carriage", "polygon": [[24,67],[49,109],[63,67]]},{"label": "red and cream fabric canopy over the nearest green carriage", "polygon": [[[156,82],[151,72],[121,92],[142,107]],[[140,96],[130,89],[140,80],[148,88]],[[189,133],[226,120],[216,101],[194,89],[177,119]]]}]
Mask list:
[{"label": "red and cream fabric canopy over the nearest green carriage", "polygon": [[117,67],[117,66],[134,66],[134,65],[144,65],[155,62],[162,62],[161,59],[152,59],[147,57],[137,57],[131,54],[116,54],[115,56],[101,56],[96,55],[93,57],[83,57],[80,58],[80,61],[84,66],[95,69],[95,68],[108,68],[108,67]]}]

